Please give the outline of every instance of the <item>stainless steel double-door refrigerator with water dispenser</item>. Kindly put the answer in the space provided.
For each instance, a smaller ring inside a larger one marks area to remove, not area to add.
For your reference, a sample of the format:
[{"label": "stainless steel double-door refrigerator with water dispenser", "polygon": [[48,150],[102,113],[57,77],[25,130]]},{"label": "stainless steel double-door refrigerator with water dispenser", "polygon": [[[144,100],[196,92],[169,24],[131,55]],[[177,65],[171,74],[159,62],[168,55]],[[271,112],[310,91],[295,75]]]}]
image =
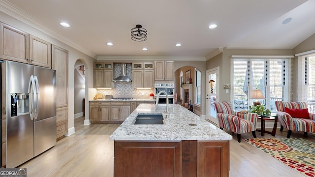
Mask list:
[{"label": "stainless steel double-door refrigerator with water dispenser", "polygon": [[56,145],[56,70],[4,61],[1,78],[6,168],[15,168]]}]

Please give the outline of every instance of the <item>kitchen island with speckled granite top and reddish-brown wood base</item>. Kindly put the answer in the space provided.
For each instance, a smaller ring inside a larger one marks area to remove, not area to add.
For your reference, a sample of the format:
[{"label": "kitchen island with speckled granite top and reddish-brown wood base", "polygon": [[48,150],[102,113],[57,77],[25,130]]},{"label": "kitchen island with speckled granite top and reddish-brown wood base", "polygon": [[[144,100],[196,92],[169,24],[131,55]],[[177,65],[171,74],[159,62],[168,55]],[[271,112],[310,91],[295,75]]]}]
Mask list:
[{"label": "kitchen island with speckled granite top and reddish-brown wood base", "polygon": [[[178,104],[140,104],[111,135],[115,177],[228,177],[232,136]],[[165,124],[133,124],[138,114]]]}]

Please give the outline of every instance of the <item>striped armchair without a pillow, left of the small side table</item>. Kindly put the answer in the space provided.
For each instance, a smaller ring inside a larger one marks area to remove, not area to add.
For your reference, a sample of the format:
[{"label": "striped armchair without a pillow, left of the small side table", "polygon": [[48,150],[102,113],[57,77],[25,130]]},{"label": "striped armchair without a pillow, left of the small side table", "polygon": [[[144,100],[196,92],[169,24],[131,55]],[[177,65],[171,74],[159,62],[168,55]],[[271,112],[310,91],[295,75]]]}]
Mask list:
[{"label": "striped armchair without a pillow, left of the small side table", "polygon": [[237,133],[239,143],[241,142],[242,133],[252,132],[252,136],[256,138],[257,114],[233,111],[231,102],[227,101],[215,102],[215,107],[220,128]]}]

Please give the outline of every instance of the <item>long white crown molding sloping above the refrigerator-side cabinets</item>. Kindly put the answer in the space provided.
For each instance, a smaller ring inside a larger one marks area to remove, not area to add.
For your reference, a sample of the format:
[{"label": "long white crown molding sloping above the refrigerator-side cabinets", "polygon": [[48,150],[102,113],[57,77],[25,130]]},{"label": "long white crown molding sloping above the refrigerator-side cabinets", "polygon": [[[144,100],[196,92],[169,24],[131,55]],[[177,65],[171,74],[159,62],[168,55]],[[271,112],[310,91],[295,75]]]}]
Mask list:
[{"label": "long white crown molding sloping above the refrigerator-side cabinets", "polygon": [[48,28],[46,28],[45,26],[43,26],[40,22],[38,22],[37,20],[35,20],[34,17],[32,17],[31,15],[29,15],[28,13],[26,13],[24,10],[22,10],[21,8],[17,7],[16,5],[12,4],[11,2],[7,1],[7,0],[0,0],[0,11],[63,42],[64,44],[96,59],[96,55],[87,51],[86,49],[76,45],[75,43],[73,43],[72,41],[70,41],[69,39],[61,36],[60,34],[56,33],[55,31],[52,31]]}]

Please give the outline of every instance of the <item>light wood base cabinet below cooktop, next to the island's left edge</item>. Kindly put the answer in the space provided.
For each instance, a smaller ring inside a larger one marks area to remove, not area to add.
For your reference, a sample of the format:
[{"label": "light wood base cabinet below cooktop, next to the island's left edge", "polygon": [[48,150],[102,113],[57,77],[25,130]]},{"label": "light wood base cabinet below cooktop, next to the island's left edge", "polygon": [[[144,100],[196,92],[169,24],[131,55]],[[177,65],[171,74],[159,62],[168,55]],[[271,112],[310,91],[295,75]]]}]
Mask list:
[{"label": "light wood base cabinet below cooktop, next to the island's left edge", "polygon": [[116,102],[110,103],[110,120],[113,122],[123,122],[130,115],[130,102]]}]

